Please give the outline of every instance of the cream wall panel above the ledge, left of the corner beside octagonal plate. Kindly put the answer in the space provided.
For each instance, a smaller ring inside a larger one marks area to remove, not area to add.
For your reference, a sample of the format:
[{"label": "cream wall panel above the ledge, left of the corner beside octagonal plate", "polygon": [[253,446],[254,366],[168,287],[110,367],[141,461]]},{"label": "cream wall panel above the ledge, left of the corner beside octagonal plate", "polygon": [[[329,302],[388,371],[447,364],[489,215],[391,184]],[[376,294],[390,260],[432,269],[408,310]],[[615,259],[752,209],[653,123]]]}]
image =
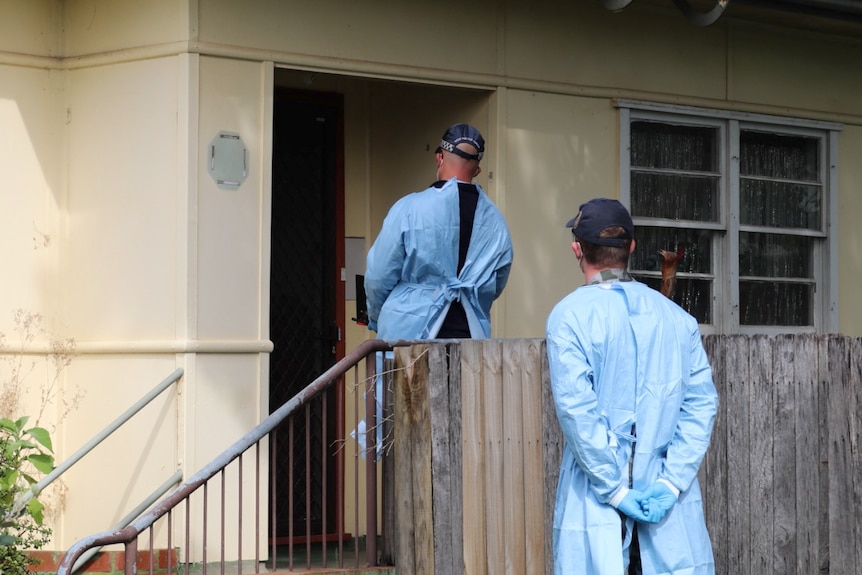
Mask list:
[{"label": "cream wall panel above the ledge, left of the corner beside octagonal plate", "polygon": [[68,74],[60,295],[80,341],[174,337],[179,81],[176,58]]}]

